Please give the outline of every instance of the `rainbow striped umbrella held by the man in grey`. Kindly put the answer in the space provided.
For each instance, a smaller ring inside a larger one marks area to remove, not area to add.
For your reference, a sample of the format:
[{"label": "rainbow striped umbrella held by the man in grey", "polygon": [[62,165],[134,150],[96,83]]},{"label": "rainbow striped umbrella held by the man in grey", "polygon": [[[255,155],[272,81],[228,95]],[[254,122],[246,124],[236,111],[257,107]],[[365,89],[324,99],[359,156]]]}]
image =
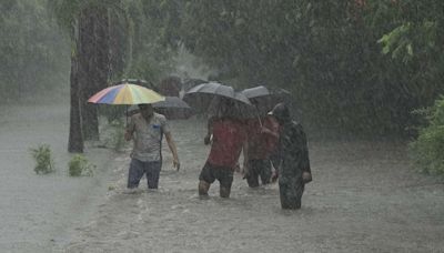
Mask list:
[{"label": "rainbow striped umbrella held by the man in grey", "polygon": [[164,101],[165,97],[148,88],[122,83],[103,89],[92,95],[88,102],[107,104],[141,104]]}]

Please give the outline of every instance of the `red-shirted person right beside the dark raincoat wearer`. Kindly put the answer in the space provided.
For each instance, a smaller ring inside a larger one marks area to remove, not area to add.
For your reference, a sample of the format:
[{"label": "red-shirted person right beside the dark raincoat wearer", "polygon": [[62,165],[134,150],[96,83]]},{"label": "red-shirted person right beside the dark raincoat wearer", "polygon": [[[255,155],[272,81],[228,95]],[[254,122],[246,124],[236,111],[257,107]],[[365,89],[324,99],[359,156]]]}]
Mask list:
[{"label": "red-shirted person right beside the dark raincoat wearer", "polygon": [[271,117],[261,120],[248,120],[248,160],[244,166],[245,179],[250,188],[270,183],[272,170],[270,156],[279,140],[279,124]]}]

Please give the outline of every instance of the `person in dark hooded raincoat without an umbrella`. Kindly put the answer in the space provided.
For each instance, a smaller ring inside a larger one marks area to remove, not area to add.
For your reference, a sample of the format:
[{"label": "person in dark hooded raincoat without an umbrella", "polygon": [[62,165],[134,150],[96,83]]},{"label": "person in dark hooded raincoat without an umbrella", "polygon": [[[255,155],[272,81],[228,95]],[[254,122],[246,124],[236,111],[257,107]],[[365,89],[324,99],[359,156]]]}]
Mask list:
[{"label": "person in dark hooded raincoat without an umbrella", "polygon": [[312,181],[309,149],[302,125],[292,121],[284,103],[276,104],[270,112],[280,124],[276,150],[279,164],[279,192],[282,209],[300,209],[305,183]]}]

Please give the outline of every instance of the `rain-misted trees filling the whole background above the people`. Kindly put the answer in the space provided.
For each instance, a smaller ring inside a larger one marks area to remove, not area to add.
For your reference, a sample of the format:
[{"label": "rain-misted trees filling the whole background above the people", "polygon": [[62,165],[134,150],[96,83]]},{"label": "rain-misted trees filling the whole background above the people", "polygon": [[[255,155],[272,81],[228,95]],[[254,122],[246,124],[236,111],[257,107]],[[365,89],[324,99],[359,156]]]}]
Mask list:
[{"label": "rain-misted trees filling the whole background above the people", "polygon": [[411,112],[444,89],[441,1],[6,0],[0,8],[2,104],[67,98],[73,60],[87,71],[81,90],[210,75],[239,89],[291,91],[307,129],[408,136],[418,121]]}]

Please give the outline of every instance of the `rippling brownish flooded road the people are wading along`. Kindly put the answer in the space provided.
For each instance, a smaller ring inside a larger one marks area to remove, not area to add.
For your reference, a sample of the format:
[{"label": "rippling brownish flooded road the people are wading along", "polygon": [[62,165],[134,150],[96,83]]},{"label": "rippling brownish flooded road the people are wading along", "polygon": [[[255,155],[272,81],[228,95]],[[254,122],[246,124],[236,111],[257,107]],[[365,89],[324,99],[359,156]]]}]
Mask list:
[{"label": "rippling brownish flooded road the people are wading along", "polygon": [[68,252],[442,252],[444,186],[411,171],[405,143],[311,142],[314,181],[300,211],[280,209],[278,184],[249,189],[238,174],[229,200],[199,200],[209,148],[204,124],[172,121],[182,170],[164,145],[160,190],[123,194],[129,158],[115,159],[115,190]]}]

